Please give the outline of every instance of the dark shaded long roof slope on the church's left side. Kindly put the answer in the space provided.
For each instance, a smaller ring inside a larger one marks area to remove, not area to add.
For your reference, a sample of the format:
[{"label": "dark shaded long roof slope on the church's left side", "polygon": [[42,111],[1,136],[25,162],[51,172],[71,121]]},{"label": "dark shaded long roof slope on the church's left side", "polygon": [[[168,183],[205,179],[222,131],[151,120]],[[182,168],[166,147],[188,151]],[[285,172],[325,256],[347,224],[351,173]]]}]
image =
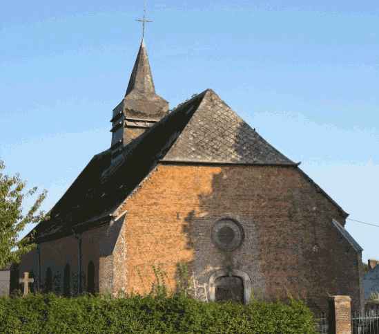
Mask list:
[{"label": "dark shaded long roof slope on the church's left side", "polygon": [[[44,242],[52,235],[61,238],[83,225],[94,228],[95,222],[102,219],[110,221],[117,207],[164,157],[202,98],[204,94],[197,95],[154,124],[130,142],[123,157],[114,164],[110,163],[110,149],[95,155],[52,208],[50,219],[37,225],[32,242]],[[28,236],[30,233],[25,237]]]}]

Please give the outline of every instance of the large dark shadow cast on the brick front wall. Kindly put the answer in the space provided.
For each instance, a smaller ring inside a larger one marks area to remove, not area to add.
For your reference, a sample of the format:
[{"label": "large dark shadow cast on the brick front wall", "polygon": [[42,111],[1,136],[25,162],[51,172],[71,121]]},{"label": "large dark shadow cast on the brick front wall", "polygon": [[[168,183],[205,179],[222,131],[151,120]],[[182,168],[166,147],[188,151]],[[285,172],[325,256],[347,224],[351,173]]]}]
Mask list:
[{"label": "large dark shadow cast on the brick front wall", "polygon": [[[245,130],[244,127],[240,129],[241,133]],[[240,147],[237,145],[235,151],[243,156],[244,151]],[[202,168],[199,167],[199,172]],[[246,272],[254,294],[257,295],[257,288],[260,288],[266,301],[274,302],[279,295],[282,303],[289,303],[286,296],[286,288],[289,288],[295,299],[300,297],[315,311],[326,312],[329,293],[336,293],[336,282],[332,282],[330,277],[336,277],[336,274],[331,270],[327,277],[325,269],[336,269],[336,263],[330,263],[329,250],[321,247],[315,252],[313,243],[310,245],[303,241],[304,236],[314,238],[319,221],[305,209],[307,205],[312,207],[313,198],[310,198],[309,187],[299,182],[295,167],[224,166],[221,169],[213,175],[211,192],[197,195],[201,214],[193,211],[184,219],[182,232],[187,237],[186,250],[195,251],[194,260],[186,263],[190,276],[196,269],[199,284],[208,284],[210,275],[218,270],[215,266],[222,263],[222,269],[226,271],[238,269]],[[291,170],[293,180],[284,180]],[[284,186],[278,190],[280,176]],[[246,178],[255,184],[247,183]],[[304,205],[303,201],[309,203]],[[303,225],[304,217],[307,221]],[[253,225],[249,234],[245,233],[244,240],[255,249],[253,253],[247,252],[244,242],[233,252],[216,247],[212,241],[212,227],[218,219],[224,218],[235,219],[245,230]],[[304,235],[299,233],[299,225]],[[267,228],[275,231],[275,235],[268,236]],[[251,235],[253,233],[255,236]],[[283,252],[295,254],[295,261],[286,262]],[[177,277],[178,271],[175,279]],[[340,290],[343,294],[342,288]]]}]

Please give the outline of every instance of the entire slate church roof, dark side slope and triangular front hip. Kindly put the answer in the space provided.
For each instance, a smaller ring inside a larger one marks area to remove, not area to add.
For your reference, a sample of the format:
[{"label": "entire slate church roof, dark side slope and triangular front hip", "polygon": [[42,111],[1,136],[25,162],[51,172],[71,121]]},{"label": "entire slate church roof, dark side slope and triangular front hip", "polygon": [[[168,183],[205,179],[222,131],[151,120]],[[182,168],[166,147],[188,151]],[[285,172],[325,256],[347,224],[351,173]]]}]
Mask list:
[{"label": "entire slate church roof, dark side slope and triangular front hip", "polygon": [[298,165],[269,145],[211,89],[184,102],[130,142],[113,165],[110,154],[108,149],[90,160],[52,208],[50,219],[37,225],[32,242],[108,223],[159,163]]}]

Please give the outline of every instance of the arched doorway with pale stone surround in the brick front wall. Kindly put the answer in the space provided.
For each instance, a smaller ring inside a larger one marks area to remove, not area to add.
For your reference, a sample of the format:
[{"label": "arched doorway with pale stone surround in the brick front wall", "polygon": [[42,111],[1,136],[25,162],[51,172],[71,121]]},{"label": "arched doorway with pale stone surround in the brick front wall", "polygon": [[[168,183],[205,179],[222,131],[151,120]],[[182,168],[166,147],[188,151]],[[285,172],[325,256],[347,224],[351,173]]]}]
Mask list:
[{"label": "arched doorway with pale stone surround in the brick front wall", "polygon": [[244,303],[244,281],[237,276],[222,276],[215,280],[216,301],[231,299]]}]

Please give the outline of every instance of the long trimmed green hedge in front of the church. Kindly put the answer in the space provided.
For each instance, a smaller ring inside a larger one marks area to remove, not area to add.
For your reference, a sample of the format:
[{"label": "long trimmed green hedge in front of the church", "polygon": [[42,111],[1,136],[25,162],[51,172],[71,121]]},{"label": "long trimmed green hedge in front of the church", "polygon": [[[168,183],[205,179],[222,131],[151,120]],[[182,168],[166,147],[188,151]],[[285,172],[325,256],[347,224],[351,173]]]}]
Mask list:
[{"label": "long trimmed green hedge in front of the church", "polygon": [[289,298],[290,304],[253,298],[244,306],[233,301],[204,303],[183,291],[170,297],[123,298],[109,293],[72,298],[31,293],[0,297],[0,332],[317,334],[311,309],[304,301]]}]

